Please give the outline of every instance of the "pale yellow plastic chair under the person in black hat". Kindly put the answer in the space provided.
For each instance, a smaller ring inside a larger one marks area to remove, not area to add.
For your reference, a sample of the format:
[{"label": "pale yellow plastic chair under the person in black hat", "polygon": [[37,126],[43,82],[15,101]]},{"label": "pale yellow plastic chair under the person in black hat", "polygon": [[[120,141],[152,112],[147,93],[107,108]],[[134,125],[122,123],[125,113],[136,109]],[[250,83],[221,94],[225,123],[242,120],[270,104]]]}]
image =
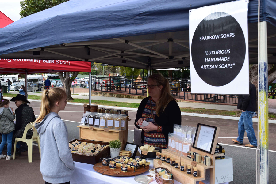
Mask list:
[{"label": "pale yellow plastic chair under the person in black hat", "polygon": [[[16,143],[18,141],[25,142],[28,146],[28,157],[29,157],[29,163],[33,162],[33,142],[37,142],[38,149],[39,149],[39,155],[40,155],[40,140],[39,136],[37,135],[37,130],[34,128],[33,130],[33,137],[31,139],[26,139],[26,135],[29,129],[33,128],[33,125],[35,122],[30,122],[24,130],[22,138],[15,138],[14,141],[14,151],[13,151],[13,160],[15,159],[15,151],[16,151]],[[40,155],[41,156],[41,155]]]}]

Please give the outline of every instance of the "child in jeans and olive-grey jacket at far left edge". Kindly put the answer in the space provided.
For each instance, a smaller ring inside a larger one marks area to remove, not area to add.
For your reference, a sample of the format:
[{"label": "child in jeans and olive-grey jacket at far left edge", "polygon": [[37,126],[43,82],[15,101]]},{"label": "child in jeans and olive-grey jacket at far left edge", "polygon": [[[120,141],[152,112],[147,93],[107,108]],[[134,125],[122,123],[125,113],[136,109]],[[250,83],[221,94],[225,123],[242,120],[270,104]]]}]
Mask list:
[{"label": "child in jeans and olive-grey jacket at far left edge", "polygon": [[[7,99],[0,100],[0,132],[2,133],[2,142],[0,144],[0,159],[13,158],[11,154],[13,131],[15,130],[14,122],[15,115],[12,108],[9,108],[10,101]],[[8,142],[7,156],[2,154],[4,145]]]}]

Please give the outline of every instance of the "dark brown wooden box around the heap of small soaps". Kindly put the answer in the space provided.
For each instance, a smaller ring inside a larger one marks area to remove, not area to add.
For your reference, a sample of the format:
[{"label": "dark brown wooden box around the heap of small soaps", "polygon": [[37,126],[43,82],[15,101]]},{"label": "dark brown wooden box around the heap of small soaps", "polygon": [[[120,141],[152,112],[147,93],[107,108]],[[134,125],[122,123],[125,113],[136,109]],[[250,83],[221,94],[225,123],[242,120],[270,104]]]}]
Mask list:
[{"label": "dark brown wooden box around the heap of small soaps", "polygon": [[[69,143],[74,143],[75,141],[80,141],[80,142],[86,142],[86,143],[93,143],[93,144],[98,144],[98,145],[109,145],[109,142],[100,142],[100,141],[89,141],[85,139],[73,139],[69,141]],[[101,151],[99,151],[96,155],[90,155],[86,156],[84,154],[72,154],[72,158],[75,162],[81,162],[81,163],[88,163],[95,165],[96,163],[99,163],[102,158],[108,158],[110,157],[110,148],[107,146],[106,148],[103,148]]]}]

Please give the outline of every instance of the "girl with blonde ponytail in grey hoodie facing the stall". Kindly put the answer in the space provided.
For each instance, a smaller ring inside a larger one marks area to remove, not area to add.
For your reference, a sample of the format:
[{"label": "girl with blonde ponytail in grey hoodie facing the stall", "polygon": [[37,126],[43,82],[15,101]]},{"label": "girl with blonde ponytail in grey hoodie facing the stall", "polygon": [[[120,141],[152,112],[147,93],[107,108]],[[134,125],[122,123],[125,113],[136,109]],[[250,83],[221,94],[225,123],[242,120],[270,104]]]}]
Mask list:
[{"label": "girl with blonde ponytail in grey hoodie facing the stall", "polygon": [[58,115],[67,104],[66,97],[63,88],[44,90],[40,115],[34,125],[40,135],[40,172],[45,184],[69,184],[75,168],[68,144],[67,126]]}]

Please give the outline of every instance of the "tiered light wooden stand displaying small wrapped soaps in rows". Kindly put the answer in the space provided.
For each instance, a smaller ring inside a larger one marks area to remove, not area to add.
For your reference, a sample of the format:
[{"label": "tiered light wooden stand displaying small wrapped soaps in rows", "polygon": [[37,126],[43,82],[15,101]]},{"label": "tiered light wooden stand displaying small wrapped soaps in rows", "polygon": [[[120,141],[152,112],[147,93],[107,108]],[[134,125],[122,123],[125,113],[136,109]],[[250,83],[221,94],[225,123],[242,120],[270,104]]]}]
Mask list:
[{"label": "tiered light wooden stand displaying small wrapped soaps in rows", "polygon": [[[215,157],[220,157],[223,156],[223,153],[219,154],[209,154],[203,151],[200,151],[195,148],[191,148],[192,152],[197,152],[201,156],[209,156],[211,160],[211,165],[206,166],[203,163],[197,163],[195,167],[197,167],[197,177],[194,177],[193,175],[188,175],[187,174],[187,165],[191,165],[191,171],[193,171],[193,165],[192,165],[192,160],[187,158],[186,156],[180,156],[179,154],[169,150],[169,149],[163,149],[162,154],[170,156],[171,158],[174,158],[176,161],[179,162],[179,169],[175,169],[174,166],[171,166],[170,164],[167,164],[166,162],[162,162],[160,164],[160,159],[154,159],[153,161],[153,167],[165,167],[167,168],[172,175],[174,176],[174,179],[182,184],[196,184],[197,181],[203,181],[206,180],[206,169],[210,169],[210,184],[215,184]],[[159,161],[159,162],[158,162]],[[181,162],[184,162],[184,172],[180,171],[180,164]]]}]

